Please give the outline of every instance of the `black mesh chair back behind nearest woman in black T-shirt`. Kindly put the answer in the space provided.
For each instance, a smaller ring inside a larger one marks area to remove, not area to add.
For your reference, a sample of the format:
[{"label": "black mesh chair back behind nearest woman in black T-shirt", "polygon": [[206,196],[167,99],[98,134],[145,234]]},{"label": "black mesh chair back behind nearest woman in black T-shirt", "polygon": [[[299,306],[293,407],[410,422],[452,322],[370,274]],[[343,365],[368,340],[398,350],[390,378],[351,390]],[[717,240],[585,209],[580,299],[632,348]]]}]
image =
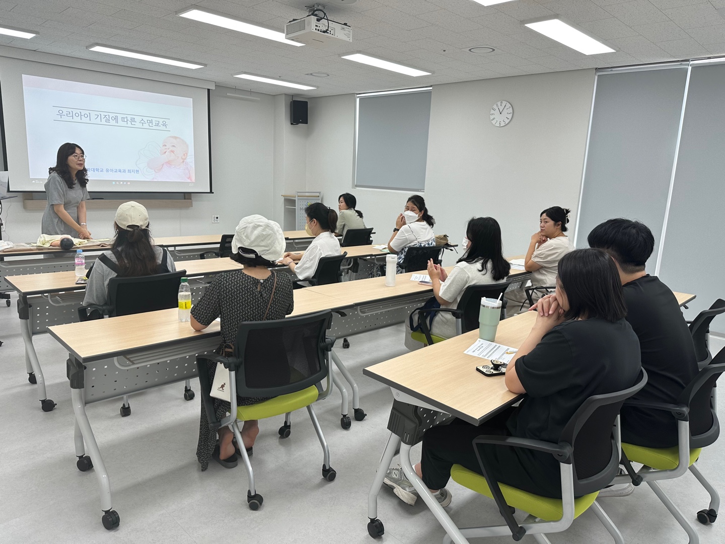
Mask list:
[{"label": "black mesh chair back behind nearest woman in black T-shirt", "polygon": [[645,369],[631,388],[587,398],[561,432],[560,442],[573,448],[574,496],[587,495],[614,479],[619,466],[619,448],[612,429],[627,398],[647,383]]}]

